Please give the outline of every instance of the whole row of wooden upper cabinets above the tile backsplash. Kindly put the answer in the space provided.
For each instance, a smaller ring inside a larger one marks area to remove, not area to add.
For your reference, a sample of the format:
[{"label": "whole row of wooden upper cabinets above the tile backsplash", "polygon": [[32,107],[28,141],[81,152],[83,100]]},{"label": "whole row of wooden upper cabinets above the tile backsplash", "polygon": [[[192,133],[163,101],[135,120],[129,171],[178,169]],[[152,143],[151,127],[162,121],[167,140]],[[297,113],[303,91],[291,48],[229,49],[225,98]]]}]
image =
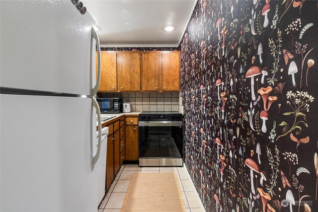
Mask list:
[{"label": "whole row of wooden upper cabinets above the tile backsplash", "polygon": [[101,51],[98,91],[179,91],[179,72],[179,51]]}]

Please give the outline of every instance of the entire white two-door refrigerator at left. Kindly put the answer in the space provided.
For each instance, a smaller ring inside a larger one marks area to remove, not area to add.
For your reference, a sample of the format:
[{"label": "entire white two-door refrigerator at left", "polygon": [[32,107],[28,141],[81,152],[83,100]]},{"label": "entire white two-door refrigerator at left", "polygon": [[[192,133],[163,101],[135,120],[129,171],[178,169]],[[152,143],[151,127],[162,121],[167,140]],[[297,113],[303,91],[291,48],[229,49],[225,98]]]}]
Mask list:
[{"label": "entire white two-door refrigerator at left", "polygon": [[97,212],[104,196],[88,11],[71,0],[0,1],[1,212]]}]

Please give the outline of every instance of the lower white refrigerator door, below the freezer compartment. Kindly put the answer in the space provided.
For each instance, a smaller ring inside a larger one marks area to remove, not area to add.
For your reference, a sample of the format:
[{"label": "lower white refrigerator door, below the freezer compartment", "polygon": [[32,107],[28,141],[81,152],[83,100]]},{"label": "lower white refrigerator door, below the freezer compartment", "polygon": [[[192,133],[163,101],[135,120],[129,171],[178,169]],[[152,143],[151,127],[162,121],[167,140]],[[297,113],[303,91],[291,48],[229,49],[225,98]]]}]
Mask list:
[{"label": "lower white refrigerator door, below the freezer compartment", "polygon": [[91,98],[1,94],[0,116],[0,211],[97,212]]}]

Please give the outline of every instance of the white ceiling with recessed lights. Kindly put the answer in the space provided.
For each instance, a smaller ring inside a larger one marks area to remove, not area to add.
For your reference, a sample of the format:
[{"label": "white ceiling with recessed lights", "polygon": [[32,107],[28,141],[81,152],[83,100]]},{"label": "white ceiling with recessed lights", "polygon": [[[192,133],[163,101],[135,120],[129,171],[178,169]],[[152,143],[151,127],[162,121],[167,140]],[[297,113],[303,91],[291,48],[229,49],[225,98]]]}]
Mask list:
[{"label": "white ceiling with recessed lights", "polygon": [[[102,47],[177,47],[197,0],[82,0]],[[164,31],[166,25],[174,30]]]}]

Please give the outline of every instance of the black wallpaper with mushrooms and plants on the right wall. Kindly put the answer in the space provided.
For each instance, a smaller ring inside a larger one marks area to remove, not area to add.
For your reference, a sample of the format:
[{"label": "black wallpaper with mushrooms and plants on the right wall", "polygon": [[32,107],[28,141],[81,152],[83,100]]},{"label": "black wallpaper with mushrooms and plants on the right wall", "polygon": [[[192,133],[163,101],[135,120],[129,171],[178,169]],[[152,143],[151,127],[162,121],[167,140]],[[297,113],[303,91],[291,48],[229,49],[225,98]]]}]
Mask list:
[{"label": "black wallpaper with mushrooms and plants on the right wall", "polygon": [[318,212],[318,1],[199,0],[185,165],[209,212]]}]

